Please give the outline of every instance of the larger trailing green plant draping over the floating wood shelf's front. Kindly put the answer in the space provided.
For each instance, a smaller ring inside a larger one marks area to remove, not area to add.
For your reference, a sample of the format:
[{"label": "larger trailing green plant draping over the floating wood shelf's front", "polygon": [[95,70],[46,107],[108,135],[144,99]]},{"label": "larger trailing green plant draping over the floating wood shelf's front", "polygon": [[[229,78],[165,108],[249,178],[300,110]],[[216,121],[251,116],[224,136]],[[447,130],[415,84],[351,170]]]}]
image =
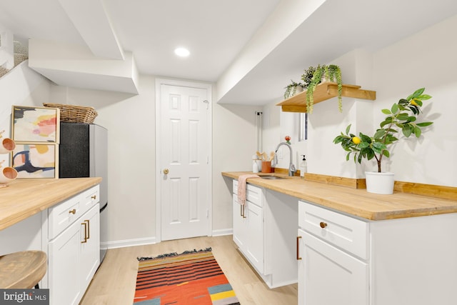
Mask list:
[{"label": "larger trailing green plant draping over the floating wood shelf's front", "polygon": [[308,114],[313,112],[313,105],[314,105],[314,97],[313,93],[316,90],[316,86],[321,84],[323,77],[326,81],[334,81],[338,85],[338,110],[341,112],[343,111],[343,106],[341,103],[341,96],[343,94],[343,83],[341,81],[341,69],[339,66],[335,64],[331,65],[318,65],[316,71],[313,73],[313,77],[309,82],[308,86],[306,86],[306,109]]}]

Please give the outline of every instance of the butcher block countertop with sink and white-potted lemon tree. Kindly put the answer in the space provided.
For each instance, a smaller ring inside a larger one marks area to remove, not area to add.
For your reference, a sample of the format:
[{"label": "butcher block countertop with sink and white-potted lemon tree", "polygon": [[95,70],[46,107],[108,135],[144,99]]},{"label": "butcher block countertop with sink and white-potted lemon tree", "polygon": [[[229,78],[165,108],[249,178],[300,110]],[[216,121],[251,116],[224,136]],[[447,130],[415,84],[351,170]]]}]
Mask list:
[{"label": "butcher block countertop with sink and white-potted lemon tree", "polygon": [[[246,171],[223,172],[223,176],[238,179]],[[259,174],[262,175],[262,174]],[[366,189],[351,189],[313,181],[298,176],[286,179],[248,179],[249,184],[310,201],[313,204],[370,220],[401,219],[457,212],[457,201],[394,192],[392,195],[371,194]]]}]

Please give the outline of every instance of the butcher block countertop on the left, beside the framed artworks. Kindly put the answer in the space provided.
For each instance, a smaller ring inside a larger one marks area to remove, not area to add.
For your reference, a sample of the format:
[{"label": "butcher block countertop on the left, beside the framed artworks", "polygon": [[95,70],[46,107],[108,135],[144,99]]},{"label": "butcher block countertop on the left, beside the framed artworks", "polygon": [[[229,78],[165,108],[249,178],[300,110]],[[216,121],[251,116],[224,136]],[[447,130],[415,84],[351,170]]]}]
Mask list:
[{"label": "butcher block countertop on the left, beside the framed artworks", "polygon": [[101,178],[17,179],[0,189],[0,230],[99,184]]}]

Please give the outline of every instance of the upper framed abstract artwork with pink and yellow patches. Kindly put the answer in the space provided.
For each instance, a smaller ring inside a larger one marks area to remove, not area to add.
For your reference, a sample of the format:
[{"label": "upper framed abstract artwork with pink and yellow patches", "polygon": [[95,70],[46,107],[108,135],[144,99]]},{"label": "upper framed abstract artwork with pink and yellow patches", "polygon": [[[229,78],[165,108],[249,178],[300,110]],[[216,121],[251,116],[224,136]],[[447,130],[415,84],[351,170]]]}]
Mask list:
[{"label": "upper framed abstract artwork with pink and yellow patches", "polygon": [[11,112],[14,141],[59,143],[58,108],[13,106]]}]

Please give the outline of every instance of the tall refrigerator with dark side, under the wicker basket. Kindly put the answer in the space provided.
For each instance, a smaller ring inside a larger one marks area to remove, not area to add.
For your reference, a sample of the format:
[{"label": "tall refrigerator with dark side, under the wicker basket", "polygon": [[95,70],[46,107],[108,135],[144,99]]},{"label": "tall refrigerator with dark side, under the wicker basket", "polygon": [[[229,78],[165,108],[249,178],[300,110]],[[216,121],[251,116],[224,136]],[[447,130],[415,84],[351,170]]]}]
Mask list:
[{"label": "tall refrigerator with dark side, under the wicker basket", "polygon": [[[106,245],[108,219],[108,131],[96,124],[60,123],[59,178],[101,177],[100,242]],[[100,263],[106,246],[100,246]]]}]

